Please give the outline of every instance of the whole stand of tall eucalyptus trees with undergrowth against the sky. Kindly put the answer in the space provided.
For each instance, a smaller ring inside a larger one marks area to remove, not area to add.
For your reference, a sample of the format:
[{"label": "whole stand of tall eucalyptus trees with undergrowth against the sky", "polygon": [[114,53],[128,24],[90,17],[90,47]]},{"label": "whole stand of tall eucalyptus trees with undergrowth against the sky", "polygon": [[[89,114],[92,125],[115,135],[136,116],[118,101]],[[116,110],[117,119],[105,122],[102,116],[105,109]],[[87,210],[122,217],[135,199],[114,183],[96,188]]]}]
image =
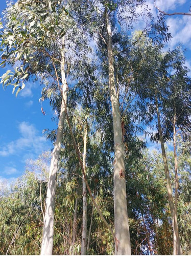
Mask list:
[{"label": "whole stand of tall eucalyptus trees with undergrowth against the sky", "polygon": [[0,254],[191,254],[191,78],[165,15],[144,0],[7,3],[1,83],[38,83],[57,129],[0,186]]}]

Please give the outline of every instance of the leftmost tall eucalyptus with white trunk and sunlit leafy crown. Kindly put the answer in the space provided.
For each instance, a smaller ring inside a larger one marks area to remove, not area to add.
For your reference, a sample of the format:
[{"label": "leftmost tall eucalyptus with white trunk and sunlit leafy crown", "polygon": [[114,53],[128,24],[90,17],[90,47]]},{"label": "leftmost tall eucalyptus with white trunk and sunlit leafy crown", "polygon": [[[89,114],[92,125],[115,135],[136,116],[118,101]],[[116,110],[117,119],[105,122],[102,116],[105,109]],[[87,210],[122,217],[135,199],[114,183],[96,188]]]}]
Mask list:
[{"label": "leftmost tall eucalyptus with white trunk and sunlit leafy crown", "polygon": [[[78,45],[79,29],[75,27],[66,7],[57,0],[40,3],[17,1],[14,4],[11,2],[3,14],[2,65],[17,64],[15,69],[8,70],[2,76],[3,86],[11,84],[13,92],[17,89],[17,95],[25,87],[26,80],[34,75],[41,75],[42,78],[46,76],[48,81],[51,79],[56,81],[57,92],[62,95],[57,138],[50,167],[41,248],[42,254],[52,254],[56,174],[68,90],[65,69],[69,68],[65,57],[67,55],[68,58],[75,58],[74,52],[73,55],[66,52]],[[76,33],[72,36],[74,29]],[[76,52],[78,52],[77,48]]]}]

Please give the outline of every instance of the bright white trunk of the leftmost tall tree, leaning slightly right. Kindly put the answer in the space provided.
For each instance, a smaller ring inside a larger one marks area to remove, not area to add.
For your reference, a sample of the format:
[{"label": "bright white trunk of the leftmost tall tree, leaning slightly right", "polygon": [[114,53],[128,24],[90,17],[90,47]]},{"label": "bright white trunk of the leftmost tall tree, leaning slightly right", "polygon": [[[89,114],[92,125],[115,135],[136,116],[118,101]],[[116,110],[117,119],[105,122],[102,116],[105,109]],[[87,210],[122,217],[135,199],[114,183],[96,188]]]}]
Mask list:
[{"label": "bright white trunk of the leftmost tall tree, leaning slightly right", "polygon": [[47,184],[46,206],[44,212],[44,227],[41,245],[41,255],[52,255],[53,253],[53,234],[54,234],[54,211],[55,211],[55,191],[56,191],[56,174],[63,136],[63,125],[65,120],[65,104],[67,100],[67,83],[64,72],[64,49],[61,50],[61,75],[62,75],[62,104],[57,129],[57,137],[51,159],[49,172],[49,181]]}]

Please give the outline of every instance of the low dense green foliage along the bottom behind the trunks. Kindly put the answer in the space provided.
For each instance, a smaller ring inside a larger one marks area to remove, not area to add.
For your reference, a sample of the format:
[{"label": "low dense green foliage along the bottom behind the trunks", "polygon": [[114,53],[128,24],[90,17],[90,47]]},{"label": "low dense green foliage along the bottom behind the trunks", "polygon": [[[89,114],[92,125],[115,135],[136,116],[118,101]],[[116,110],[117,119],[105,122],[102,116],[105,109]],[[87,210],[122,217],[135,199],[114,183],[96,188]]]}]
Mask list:
[{"label": "low dense green foliage along the bottom behind the trunks", "polygon": [[[173,154],[168,153],[173,177]],[[47,182],[47,156],[28,163],[26,173],[11,187],[1,190],[1,254],[39,254],[45,207]],[[179,162],[179,223],[184,254],[190,253],[190,182],[191,160],[181,155]],[[38,170],[38,171],[37,171]],[[172,254],[173,242],[170,211],[168,206],[162,158],[153,151],[143,152],[139,161],[131,164],[127,175],[128,214],[130,217],[131,245],[133,254]],[[81,244],[82,198],[79,193],[79,175],[67,173],[60,167],[57,178],[55,208],[54,254],[79,254]],[[114,221],[110,176],[104,181],[93,180],[94,196],[103,215],[112,224]],[[99,178],[99,176],[98,176]],[[106,186],[106,184],[108,184]],[[63,189],[65,188],[65,189]],[[77,236],[73,243],[75,199],[78,198]],[[42,210],[41,210],[42,205]],[[88,230],[90,228],[92,203],[88,199]],[[7,251],[8,250],[8,251]],[[113,254],[113,241],[109,231],[93,209],[88,254]]]}]

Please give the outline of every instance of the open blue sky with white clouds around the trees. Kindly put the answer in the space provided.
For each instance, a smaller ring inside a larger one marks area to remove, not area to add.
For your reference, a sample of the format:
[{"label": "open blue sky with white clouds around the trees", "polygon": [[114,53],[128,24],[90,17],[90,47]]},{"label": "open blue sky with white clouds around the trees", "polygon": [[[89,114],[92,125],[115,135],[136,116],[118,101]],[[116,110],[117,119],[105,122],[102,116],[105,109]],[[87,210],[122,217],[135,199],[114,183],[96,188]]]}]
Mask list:
[{"label": "open blue sky with white clouds around the trees", "polygon": [[[147,1],[151,12],[156,13],[154,0]],[[165,12],[188,12],[190,1],[160,0],[156,2]],[[1,0],[0,12],[6,8],[6,0]],[[166,16],[169,32],[173,38],[168,48],[173,49],[181,42],[187,48],[186,66],[191,69],[191,16]],[[0,76],[6,68],[0,68]],[[50,141],[42,135],[43,129],[55,129],[56,124],[51,120],[53,112],[49,102],[43,102],[45,115],[41,113],[41,87],[30,81],[25,89],[18,94],[12,94],[9,86],[5,91],[0,85],[0,181],[12,181],[25,171],[26,160],[35,160],[38,155],[52,148]],[[149,143],[150,148],[155,144]]]}]

